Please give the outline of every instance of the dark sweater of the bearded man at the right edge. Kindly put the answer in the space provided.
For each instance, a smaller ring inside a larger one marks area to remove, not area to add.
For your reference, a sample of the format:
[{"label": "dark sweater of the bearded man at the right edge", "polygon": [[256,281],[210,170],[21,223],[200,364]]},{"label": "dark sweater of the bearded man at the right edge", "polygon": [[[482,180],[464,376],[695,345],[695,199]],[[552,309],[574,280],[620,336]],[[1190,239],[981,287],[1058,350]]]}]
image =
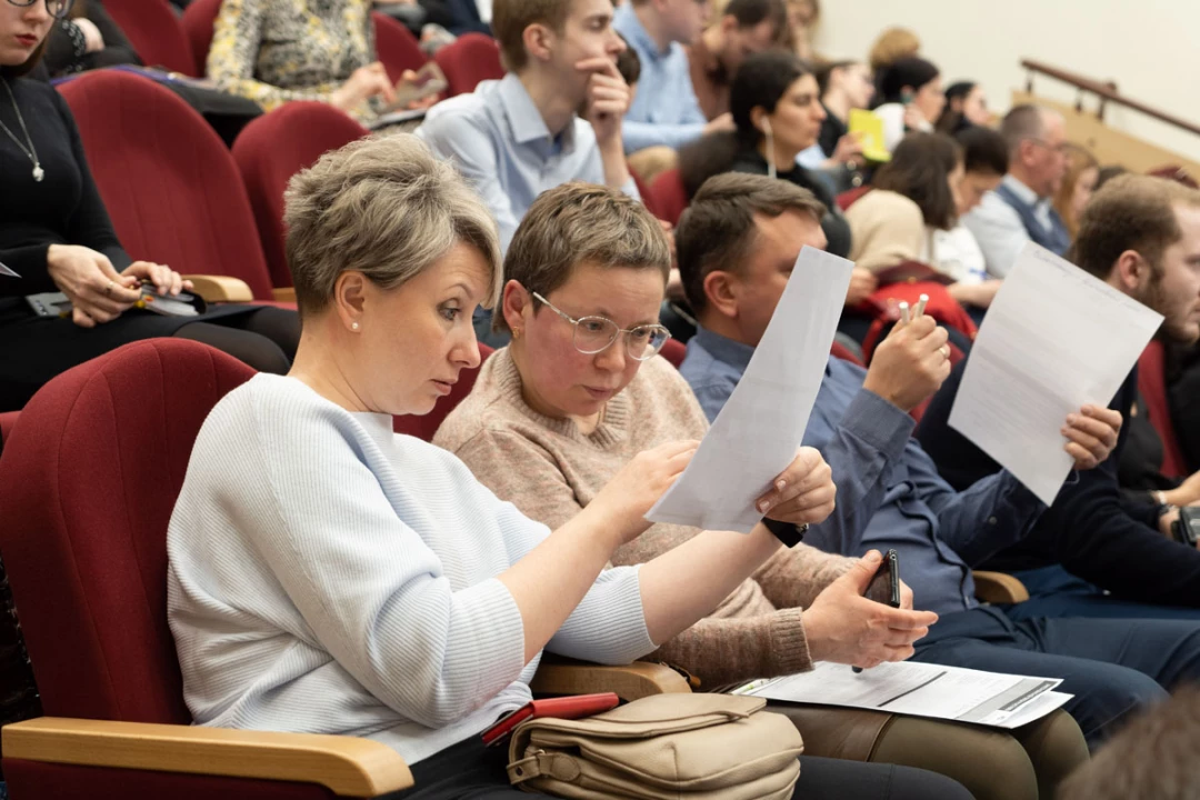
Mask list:
[{"label": "dark sweater of the bearded man at the right edge", "polygon": [[[998,464],[948,425],[954,396],[967,360],[950,373],[935,395],[917,437],[937,463],[938,471],[954,486],[989,475]],[[1127,414],[1136,390],[1130,373],[1111,404]],[[1123,600],[1168,606],[1200,603],[1200,551],[1165,539],[1146,524],[1150,506],[1138,504],[1139,517],[1121,498],[1116,462],[1123,445],[1097,469],[1079,473],[1079,480],[1062,487],[1054,505],[1030,535],[998,559],[1028,566],[1061,564],[1073,575],[1108,589]],[[970,480],[968,480],[970,479]]]}]

